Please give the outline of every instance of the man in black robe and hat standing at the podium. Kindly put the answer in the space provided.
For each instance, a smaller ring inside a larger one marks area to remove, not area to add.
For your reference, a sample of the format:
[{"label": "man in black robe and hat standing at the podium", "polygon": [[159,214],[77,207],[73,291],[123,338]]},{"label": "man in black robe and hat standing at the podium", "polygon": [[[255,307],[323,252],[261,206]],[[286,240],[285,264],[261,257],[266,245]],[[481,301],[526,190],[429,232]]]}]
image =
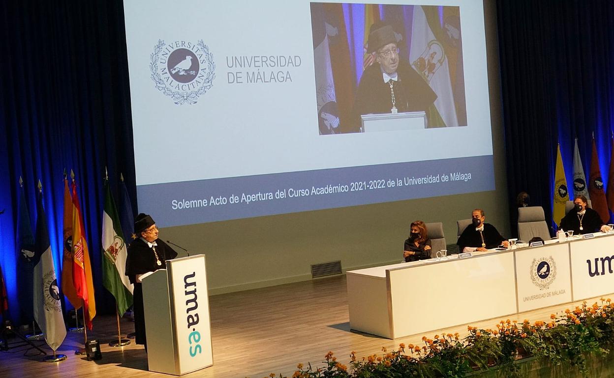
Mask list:
[{"label": "man in black robe and hat standing at the podium", "polygon": [[158,269],[166,269],[166,260],[177,257],[177,252],[158,239],[158,227],[147,214],[141,213],[134,219],[134,233],[140,237],[128,246],[126,276],[134,284],[135,341],[136,344],[143,344],[147,351],[141,276]]}]

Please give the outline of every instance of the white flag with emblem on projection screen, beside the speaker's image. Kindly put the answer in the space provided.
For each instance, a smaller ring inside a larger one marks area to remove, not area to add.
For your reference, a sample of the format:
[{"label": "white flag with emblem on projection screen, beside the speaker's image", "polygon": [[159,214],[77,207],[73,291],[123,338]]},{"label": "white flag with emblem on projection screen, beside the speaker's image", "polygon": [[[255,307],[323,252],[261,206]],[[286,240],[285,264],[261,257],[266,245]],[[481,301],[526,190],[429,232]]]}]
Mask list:
[{"label": "white flag with emblem on projection screen, beside the speaker's image", "polygon": [[421,6],[414,7],[410,63],[437,94],[435,107],[446,127],[459,126],[443,43],[435,38]]}]

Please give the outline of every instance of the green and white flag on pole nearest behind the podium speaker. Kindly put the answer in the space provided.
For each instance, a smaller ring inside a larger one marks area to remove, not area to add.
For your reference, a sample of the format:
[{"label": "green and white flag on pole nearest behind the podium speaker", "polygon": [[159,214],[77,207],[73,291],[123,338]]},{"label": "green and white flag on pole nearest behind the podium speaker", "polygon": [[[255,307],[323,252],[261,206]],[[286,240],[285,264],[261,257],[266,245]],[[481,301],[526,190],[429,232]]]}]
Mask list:
[{"label": "green and white flag on pole nearest behind the podium speaker", "polygon": [[117,311],[122,316],[132,305],[134,286],[126,276],[128,252],[115,201],[109,188],[109,180],[104,181],[104,192],[103,285],[115,297]]}]

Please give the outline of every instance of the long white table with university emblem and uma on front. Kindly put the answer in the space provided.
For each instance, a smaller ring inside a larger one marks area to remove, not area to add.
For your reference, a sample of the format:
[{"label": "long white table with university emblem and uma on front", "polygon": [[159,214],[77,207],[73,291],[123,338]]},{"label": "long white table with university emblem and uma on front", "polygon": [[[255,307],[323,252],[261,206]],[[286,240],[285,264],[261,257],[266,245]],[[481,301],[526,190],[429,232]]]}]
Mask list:
[{"label": "long white table with university emblem and uma on front", "polygon": [[348,271],[352,330],[389,339],[614,292],[614,234]]}]

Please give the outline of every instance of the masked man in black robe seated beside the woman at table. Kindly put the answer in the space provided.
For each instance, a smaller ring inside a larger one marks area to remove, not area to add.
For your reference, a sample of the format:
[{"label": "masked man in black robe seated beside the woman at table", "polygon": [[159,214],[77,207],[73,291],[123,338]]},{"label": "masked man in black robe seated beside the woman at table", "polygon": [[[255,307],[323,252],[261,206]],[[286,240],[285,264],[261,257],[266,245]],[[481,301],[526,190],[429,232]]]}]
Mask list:
[{"label": "masked man in black robe seated beside the woman at table", "polygon": [[497,248],[502,245],[505,248],[509,243],[494,225],[484,223],[484,210],[475,209],[471,213],[472,224],[461,233],[456,244],[461,252],[486,251],[487,249]]}]

